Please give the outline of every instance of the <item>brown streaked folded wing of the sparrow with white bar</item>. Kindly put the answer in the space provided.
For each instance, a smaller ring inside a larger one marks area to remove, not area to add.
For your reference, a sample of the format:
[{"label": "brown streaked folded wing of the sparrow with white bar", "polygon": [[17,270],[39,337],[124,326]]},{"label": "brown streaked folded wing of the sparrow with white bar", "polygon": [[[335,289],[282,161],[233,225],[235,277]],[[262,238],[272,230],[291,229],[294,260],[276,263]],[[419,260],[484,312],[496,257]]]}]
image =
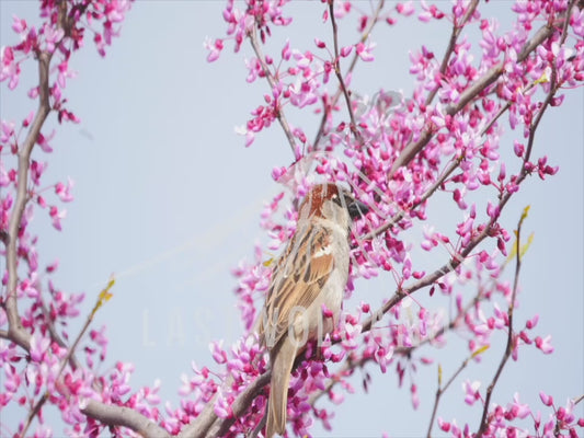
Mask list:
[{"label": "brown streaked folded wing of the sparrow with white bar", "polygon": [[331,231],[309,223],[297,230],[278,260],[267,292],[261,338],[268,347],[287,335],[289,318],[318,297],[334,268]]}]

